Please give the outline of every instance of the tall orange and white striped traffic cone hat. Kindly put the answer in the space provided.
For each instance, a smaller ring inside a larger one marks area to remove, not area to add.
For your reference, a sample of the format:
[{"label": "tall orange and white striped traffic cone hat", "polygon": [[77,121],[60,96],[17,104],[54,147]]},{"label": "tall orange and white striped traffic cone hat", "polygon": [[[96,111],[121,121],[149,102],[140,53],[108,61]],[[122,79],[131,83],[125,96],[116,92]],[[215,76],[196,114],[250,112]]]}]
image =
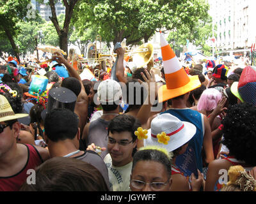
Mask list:
[{"label": "tall orange and white striped traffic cone hat", "polygon": [[179,59],[161,32],[160,44],[166,85],[162,85],[158,89],[159,103],[186,94],[201,85],[198,75],[187,75],[186,71],[180,65]]}]

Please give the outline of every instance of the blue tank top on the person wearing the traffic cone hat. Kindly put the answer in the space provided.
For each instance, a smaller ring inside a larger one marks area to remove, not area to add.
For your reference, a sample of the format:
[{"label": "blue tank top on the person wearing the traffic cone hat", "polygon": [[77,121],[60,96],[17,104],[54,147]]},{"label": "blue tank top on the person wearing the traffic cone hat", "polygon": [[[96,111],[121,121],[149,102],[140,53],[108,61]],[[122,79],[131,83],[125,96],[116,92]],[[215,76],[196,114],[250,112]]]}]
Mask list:
[{"label": "blue tank top on the person wearing the traffic cone hat", "polygon": [[[196,126],[196,134],[191,138],[188,143],[188,147],[191,147],[195,151],[196,157],[196,167],[201,172],[203,171],[202,162],[202,147],[204,142],[204,124],[202,120],[204,119],[202,113],[189,108],[184,109],[169,109],[163,113],[170,113],[180,119],[181,121],[191,122]],[[161,113],[161,114],[163,114]]]}]

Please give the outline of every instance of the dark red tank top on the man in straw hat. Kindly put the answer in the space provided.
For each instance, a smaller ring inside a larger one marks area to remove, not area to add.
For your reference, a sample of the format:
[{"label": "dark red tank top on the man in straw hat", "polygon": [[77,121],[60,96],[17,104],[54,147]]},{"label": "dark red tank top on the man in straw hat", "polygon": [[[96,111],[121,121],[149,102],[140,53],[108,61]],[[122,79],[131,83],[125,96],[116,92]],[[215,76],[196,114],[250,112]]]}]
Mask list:
[{"label": "dark red tank top on the man in straw hat", "polygon": [[39,152],[35,149],[33,145],[26,144],[28,149],[28,159],[25,166],[19,173],[12,175],[10,177],[0,177],[0,191],[19,191],[20,187],[24,182],[26,182],[27,174],[29,169],[35,169],[43,163],[42,157]]}]

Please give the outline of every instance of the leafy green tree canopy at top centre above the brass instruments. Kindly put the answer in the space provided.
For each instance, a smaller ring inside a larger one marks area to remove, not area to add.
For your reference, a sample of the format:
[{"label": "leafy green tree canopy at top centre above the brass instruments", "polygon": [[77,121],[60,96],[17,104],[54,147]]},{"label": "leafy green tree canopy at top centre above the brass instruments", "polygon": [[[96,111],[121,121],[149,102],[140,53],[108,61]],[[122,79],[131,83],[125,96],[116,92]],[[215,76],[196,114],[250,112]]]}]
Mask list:
[{"label": "leafy green tree canopy at top centre above the brass instruments", "polygon": [[75,18],[83,30],[95,25],[97,34],[106,42],[115,44],[127,38],[130,45],[147,42],[160,29],[184,25],[191,29],[198,20],[207,18],[207,10],[205,0],[81,0],[76,5]]}]

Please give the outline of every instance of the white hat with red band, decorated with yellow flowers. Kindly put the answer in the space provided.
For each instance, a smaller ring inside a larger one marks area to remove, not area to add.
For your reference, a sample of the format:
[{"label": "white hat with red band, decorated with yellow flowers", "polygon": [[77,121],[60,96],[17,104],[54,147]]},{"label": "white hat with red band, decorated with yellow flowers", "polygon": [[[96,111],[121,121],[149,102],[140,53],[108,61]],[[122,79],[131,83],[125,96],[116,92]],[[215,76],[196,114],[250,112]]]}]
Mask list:
[{"label": "white hat with red band, decorated with yellow flowers", "polygon": [[[166,133],[170,138],[168,143],[159,143],[158,134]],[[163,113],[155,117],[151,122],[151,128],[148,129],[148,138],[144,140],[144,146],[157,145],[164,147],[169,152],[181,147],[193,138],[196,133],[196,126],[190,122],[179,120],[170,113]]]}]

